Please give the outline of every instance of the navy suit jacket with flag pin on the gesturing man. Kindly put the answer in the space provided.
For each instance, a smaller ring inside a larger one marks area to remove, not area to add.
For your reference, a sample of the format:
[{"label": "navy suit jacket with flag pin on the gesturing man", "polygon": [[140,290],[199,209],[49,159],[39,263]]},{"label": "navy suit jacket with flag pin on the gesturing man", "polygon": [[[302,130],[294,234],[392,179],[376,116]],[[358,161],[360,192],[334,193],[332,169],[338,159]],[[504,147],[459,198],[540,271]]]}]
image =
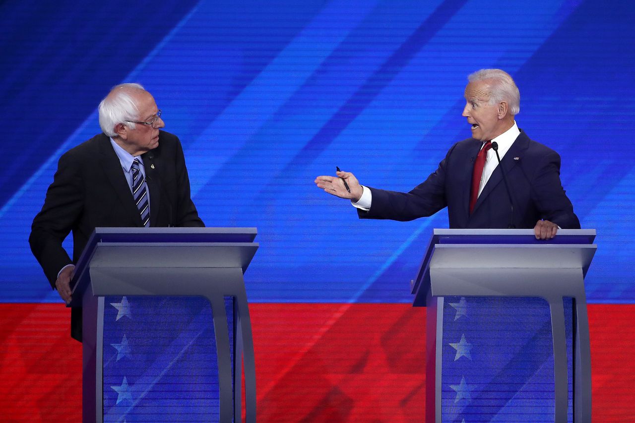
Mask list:
[{"label": "navy suit jacket with flag pin on the gesturing man", "polygon": [[[371,188],[370,211],[360,218],[413,220],[448,208],[451,228],[506,228],[511,206],[500,166],[493,171],[469,212],[474,159],[481,142],[468,138],[457,142],[424,183],[406,192]],[[560,182],[560,156],[521,131],[501,161],[514,204],[516,228],[533,228],[540,219],[563,229],[578,229],[580,221]]]}]

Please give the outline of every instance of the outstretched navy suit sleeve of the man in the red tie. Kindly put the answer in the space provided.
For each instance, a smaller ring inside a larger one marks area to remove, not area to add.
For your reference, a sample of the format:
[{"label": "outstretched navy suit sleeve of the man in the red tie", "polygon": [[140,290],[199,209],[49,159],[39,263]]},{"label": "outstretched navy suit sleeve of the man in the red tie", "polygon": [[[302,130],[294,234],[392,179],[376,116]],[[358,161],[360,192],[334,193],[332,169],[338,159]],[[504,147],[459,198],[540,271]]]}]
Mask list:
[{"label": "outstretched navy suit sleeve of the man in the red tie", "polygon": [[437,211],[445,208],[448,205],[446,199],[446,172],[448,161],[450,161],[450,156],[455,147],[456,144],[448,151],[445,159],[439,163],[437,170],[410,192],[370,188],[373,193],[370,210],[358,209],[359,218],[390,219],[406,222],[434,215]]}]

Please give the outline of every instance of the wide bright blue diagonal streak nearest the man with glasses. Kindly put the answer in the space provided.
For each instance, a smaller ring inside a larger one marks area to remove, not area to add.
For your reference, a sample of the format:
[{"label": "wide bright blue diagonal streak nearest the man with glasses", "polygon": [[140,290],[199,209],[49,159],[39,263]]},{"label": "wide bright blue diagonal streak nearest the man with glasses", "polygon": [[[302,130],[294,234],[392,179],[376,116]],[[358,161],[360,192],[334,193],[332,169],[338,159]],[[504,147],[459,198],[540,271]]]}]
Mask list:
[{"label": "wide bright blue diagonal streak nearest the man with glasses", "polygon": [[[262,124],[266,123],[281,105],[311,77],[314,69],[345,39],[356,24],[372,10],[375,1],[358,0],[347,4],[354,13],[342,17],[342,4],[331,1],[320,11],[257,77],[236,96],[225,110],[187,147],[189,168],[204,168],[204,175],[191,181],[192,196],[196,196]],[[338,17],[333,19],[333,17]],[[306,46],[311,45],[307,55]],[[302,68],[298,69],[298,60]],[[272,90],[272,81],[278,81]],[[282,84],[280,84],[282,82]],[[225,147],[224,156],[192,154],[210,142],[222,139],[231,131],[232,143]]]}]

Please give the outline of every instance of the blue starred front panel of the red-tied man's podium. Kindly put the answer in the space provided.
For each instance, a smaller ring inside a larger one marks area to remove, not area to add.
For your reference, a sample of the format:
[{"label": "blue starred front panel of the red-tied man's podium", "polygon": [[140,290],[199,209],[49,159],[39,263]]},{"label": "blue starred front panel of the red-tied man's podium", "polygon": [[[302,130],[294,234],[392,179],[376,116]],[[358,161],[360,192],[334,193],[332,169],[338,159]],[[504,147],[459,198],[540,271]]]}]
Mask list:
[{"label": "blue starred front panel of the red-tied man's podium", "polygon": [[[546,300],[445,297],[443,422],[554,422],[554,348]],[[573,313],[565,299],[568,422],[573,422]]]}]

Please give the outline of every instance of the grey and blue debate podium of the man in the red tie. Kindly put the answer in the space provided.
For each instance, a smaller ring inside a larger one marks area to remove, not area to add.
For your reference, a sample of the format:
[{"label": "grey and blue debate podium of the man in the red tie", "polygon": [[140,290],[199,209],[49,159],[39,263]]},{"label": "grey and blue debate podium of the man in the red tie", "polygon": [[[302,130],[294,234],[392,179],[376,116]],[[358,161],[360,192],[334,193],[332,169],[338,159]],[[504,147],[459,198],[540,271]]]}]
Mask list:
[{"label": "grey and blue debate podium of the man in the red tie", "polygon": [[591,422],[595,235],[434,229],[413,281],[427,307],[426,422]]}]

